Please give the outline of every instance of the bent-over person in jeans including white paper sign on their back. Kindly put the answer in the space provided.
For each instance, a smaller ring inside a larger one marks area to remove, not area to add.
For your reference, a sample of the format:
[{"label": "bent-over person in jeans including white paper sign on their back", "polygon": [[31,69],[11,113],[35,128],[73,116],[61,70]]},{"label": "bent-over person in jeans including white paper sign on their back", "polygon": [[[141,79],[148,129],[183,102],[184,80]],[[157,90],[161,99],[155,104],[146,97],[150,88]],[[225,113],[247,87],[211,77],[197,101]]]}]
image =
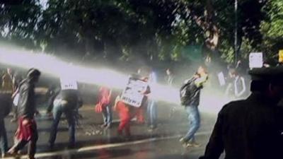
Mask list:
[{"label": "bent-over person in jeans including white paper sign on their back", "polygon": [[57,136],[57,128],[62,114],[64,113],[69,125],[69,144],[68,148],[75,146],[75,126],[76,118],[78,117],[79,107],[82,105],[82,100],[79,96],[78,85],[71,77],[61,80],[61,90],[54,99],[53,103],[53,123],[50,130],[49,146],[54,148],[54,142]]}]

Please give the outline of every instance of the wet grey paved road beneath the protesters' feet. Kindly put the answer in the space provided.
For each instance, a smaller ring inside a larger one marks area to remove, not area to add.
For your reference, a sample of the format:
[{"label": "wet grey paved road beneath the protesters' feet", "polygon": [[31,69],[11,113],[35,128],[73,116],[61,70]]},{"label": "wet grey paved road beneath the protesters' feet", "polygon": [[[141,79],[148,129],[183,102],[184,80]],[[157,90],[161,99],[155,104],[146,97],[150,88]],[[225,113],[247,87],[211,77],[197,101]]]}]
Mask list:
[{"label": "wet grey paved road beneath the protesters' feet", "polygon": [[[67,149],[68,131],[67,123],[62,120],[59,124],[59,133],[55,145],[55,151],[47,148],[50,133],[51,119],[42,115],[37,117],[39,141],[37,142],[37,158],[99,158],[99,159],[178,159],[198,158],[204,152],[212,127],[215,122],[215,114],[202,113],[202,126],[197,133],[197,141],[202,144],[200,148],[183,148],[179,143],[180,136],[187,131],[187,116],[183,107],[178,107],[173,117],[168,117],[170,107],[159,103],[158,105],[158,129],[148,131],[146,125],[132,122],[132,138],[122,139],[117,137],[117,115],[114,115],[115,123],[111,129],[100,129],[102,115],[94,112],[93,107],[84,106],[80,113],[83,119],[76,129],[76,148]],[[42,110],[43,112],[43,110]],[[13,142],[13,132],[16,123],[6,119],[9,145]],[[24,153],[24,152],[23,152]],[[22,156],[24,158],[25,156]]]}]

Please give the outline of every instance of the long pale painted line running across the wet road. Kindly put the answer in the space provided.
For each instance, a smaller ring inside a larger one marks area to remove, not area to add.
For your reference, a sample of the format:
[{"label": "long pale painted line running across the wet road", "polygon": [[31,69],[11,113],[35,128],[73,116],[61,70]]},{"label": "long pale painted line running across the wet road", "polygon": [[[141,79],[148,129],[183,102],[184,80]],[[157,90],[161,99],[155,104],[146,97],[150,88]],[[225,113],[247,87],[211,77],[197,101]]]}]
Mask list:
[{"label": "long pale painted line running across the wet road", "polygon": [[[197,133],[196,136],[201,136],[201,135],[209,135],[211,134],[211,131],[204,131]],[[100,145],[100,146],[86,146],[83,148],[78,148],[78,149],[71,149],[71,150],[64,150],[64,151],[55,151],[55,152],[47,152],[47,153],[37,153],[35,154],[35,158],[47,158],[47,157],[52,157],[52,156],[57,156],[57,155],[71,155],[75,153],[82,153],[86,151],[94,151],[102,148],[116,148],[116,147],[122,147],[122,146],[130,146],[130,145],[137,145],[141,143],[150,143],[154,141],[162,141],[162,140],[168,140],[168,139],[175,139],[175,138],[180,138],[181,135],[175,135],[175,136],[166,136],[166,137],[157,137],[157,138],[150,138],[150,139],[143,139],[139,141],[129,141],[125,143],[109,143],[105,145]],[[28,158],[27,155],[21,155],[21,158]],[[14,158],[6,158],[6,159],[14,159]],[[18,158],[20,159],[20,158]]]}]

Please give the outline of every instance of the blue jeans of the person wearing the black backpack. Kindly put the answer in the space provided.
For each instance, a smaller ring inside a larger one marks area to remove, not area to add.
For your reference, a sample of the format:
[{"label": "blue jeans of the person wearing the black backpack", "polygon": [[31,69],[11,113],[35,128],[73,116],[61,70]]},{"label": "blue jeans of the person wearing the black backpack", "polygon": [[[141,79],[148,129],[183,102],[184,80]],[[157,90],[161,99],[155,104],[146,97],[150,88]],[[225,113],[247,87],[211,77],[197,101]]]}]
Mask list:
[{"label": "blue jeans of the person wearing the black backpack", "polygon": [[188,119],[190,122],[189,130],[185,135],[185,141],[195,141],[195,133],[200,128],[200,112],[197,105],[187,105],[185,110],[188,114]]}]

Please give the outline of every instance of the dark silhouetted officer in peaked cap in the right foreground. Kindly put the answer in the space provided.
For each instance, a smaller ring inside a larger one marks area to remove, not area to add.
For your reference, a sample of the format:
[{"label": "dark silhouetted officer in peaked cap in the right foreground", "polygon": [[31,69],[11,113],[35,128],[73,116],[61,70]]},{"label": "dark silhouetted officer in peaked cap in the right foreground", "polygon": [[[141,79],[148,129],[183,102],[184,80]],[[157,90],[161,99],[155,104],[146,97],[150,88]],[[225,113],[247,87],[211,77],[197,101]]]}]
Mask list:
[{"label": "dark silhouetted officer in peaked cap in the right foreground", "polygon": [[246,100],[225,105],[219,112],[204,156],[216,159],[283,158],[283,68],[253,69]]}]

